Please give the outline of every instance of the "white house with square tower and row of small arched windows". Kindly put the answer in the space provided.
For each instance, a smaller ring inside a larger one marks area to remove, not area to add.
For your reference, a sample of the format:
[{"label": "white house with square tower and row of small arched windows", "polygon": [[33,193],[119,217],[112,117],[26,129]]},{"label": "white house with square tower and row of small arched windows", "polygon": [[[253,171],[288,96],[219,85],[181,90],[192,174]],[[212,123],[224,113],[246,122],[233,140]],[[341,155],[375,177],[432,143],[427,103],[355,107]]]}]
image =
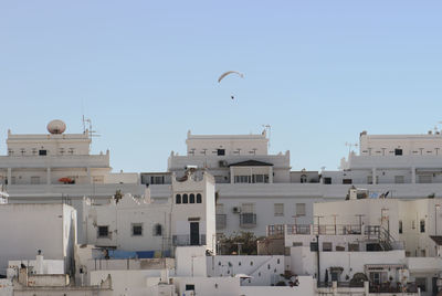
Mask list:
[{"label": "white house with square tower and row of small arched windows", "polygon": [[214,180],[191,171],[172,178],[170,197],[164,203],[125,194],[108,204],[84,201],[85,241],[123,251],[169,254],[172,246],[206,245],[215,251]]}]

